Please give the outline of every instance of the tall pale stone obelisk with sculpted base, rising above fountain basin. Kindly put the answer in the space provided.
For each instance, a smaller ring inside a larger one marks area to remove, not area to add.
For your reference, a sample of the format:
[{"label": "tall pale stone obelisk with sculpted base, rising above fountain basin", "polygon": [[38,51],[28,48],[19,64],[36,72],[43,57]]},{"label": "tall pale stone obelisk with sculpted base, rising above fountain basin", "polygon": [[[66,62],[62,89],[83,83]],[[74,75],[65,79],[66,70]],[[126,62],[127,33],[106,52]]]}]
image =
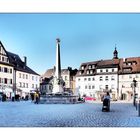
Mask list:
[{"label": "tall pale stone obelisk with sculpted base, rising above fountain basin", "polygon": [[56,39],[56,66],[53,79],[53,93],[61,94],[63,89],[63,80],[61,78],[61,59],[60,59],[60,39]]}]

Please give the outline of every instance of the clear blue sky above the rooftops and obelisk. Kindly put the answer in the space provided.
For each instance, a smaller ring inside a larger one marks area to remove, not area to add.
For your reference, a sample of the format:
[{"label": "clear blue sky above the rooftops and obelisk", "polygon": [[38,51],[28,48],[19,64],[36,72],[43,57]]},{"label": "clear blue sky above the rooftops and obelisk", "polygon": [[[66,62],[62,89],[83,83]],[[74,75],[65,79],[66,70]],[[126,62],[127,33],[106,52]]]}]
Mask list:
[{"label": "clear blue sky above the rooftops and obelisk", "polygon": [[82,62],[140,56],[140,14],[0,14],[0,40],[7,51],[27,56],[42,74],[55,65],[61,40],[62,68]]}]

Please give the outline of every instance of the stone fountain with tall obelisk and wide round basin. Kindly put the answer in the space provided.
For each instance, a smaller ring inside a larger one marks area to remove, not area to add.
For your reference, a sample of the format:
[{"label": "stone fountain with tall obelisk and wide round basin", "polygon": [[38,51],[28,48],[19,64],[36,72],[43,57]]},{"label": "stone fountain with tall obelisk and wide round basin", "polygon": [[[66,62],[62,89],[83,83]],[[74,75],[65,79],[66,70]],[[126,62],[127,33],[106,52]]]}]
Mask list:
[{"label": "stone fountain with tall obelisk and wide round basin", "polygon": [[60,39],[56,39],[56,65],[55,65],[55,74],[52,80],[52,93],[41,95],[40,103],[60,103],[60,104],[71,104],[78,103],[78,96],[73,95],[72,93],[64,92],[64,81],[61,77],[61,57],[60,57]]}]

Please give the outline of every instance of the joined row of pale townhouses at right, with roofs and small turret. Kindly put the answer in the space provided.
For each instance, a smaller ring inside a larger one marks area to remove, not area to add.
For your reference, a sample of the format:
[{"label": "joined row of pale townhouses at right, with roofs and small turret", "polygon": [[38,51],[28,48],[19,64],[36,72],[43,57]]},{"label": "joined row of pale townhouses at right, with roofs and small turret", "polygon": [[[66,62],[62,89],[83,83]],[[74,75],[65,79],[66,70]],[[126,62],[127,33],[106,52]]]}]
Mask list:
[{"label": "joined row of pale townhouses at right, with roofs and small turret", "polygon": [[133,96],[133,80],[140,92],[140,57],[118,58],[115,48],[113,59],[82,63],[76,75],[76,92],[81,96],[98,99],[110,92],[116,99],[130,100]]}]

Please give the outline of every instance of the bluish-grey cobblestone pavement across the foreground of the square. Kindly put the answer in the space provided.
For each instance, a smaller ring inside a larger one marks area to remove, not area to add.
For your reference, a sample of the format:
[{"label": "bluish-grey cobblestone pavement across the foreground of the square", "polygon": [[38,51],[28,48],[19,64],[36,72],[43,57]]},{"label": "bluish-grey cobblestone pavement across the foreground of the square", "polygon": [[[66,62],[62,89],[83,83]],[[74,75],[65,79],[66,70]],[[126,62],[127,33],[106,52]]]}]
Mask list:
[{"label": "bluish-grey cobblestone pavement across the foreground of the square", "polygon": [[131,102],[34,104],[0,102],[0,127],[140,127],[140,117]]}]

